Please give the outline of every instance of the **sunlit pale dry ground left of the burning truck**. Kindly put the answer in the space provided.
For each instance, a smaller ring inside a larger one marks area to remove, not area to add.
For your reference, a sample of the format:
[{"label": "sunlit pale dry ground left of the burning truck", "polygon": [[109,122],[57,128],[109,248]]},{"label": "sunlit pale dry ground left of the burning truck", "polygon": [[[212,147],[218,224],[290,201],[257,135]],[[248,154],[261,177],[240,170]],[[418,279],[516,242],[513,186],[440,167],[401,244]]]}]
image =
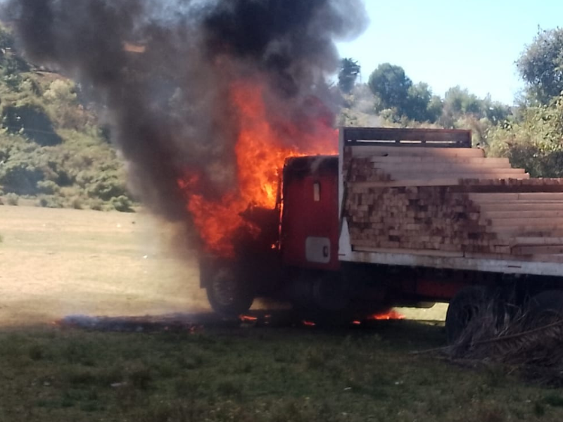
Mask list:
[{"label": "sunlit pale dry ground left of the burning truck", "polygon": [[194,260],[143,214],[0,206],[0,324],[207,309]]}]

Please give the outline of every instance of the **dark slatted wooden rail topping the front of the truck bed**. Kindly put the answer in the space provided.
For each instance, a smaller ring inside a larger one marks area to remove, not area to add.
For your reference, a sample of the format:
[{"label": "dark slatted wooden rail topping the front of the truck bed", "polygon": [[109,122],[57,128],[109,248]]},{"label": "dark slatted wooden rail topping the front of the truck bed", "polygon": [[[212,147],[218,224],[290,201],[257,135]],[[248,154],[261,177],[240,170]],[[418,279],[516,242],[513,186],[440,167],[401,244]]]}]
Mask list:
[{"label": "dark slatted wooden rail topping the front of the truck bed", "polygon": [[[471,148],[471,131],[462,129],[404,129],[398,127],[343,127],[345,145],[358,141],[419,141],[438,142],[443,147],[448,143],[462,148]],[[441,144],[443,143],[443,145]],[[400,145],[400,143],[399,143]]]}]

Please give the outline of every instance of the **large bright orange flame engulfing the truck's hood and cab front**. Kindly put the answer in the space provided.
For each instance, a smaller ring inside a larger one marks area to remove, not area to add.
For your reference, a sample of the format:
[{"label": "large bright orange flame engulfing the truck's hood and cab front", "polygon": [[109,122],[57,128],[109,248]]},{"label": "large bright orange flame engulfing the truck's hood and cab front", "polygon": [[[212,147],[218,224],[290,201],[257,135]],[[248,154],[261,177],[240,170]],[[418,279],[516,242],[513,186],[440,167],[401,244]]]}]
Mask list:
[{"label": "large bright orange flame engulfing the truck's hood and cab front", "polygon": [[303,116],[306,132],[274,116],[274,129],[270,123],[272,116],[267,115],[264,91],[260,84],[249,81],[235,82],[230,89],[228,101],[239,120],[234,148],[236,189],[213,201],[197,193],[201,192],[198,177],[186,176],[180,181],[187,196],[187,210],[205,248],[217,255],[234,255],[232,238],[241,226],[248,224],[241,218],[248,206],[274,209],[279,174],[286,158],[337,151],[337,132],[322,116]]}]

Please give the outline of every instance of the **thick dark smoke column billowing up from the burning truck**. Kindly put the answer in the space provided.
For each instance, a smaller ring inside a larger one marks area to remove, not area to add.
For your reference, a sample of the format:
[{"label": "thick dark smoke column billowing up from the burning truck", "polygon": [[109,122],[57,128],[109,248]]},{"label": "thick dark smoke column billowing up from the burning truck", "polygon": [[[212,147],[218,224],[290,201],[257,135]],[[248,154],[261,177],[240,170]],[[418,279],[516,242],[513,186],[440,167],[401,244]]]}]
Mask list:
[{"label": "thick dark smoke column billowing up from the burning truck", "polygon": [[[2,4],[27,56],[74,77],[103,104],[132,190],[171,220],[186,219],[177,184],[186,170],[201,178],[205,198],[236,190],[239,122],[227,101],[230,84],[260,83],[274,127],[291,120],[311,130],[303,118],[310,115],[333,124],[325,80],[339,65],[334,41],[367,25],[362,0]],[[279,136],[298,142],[281,129]]]}]

